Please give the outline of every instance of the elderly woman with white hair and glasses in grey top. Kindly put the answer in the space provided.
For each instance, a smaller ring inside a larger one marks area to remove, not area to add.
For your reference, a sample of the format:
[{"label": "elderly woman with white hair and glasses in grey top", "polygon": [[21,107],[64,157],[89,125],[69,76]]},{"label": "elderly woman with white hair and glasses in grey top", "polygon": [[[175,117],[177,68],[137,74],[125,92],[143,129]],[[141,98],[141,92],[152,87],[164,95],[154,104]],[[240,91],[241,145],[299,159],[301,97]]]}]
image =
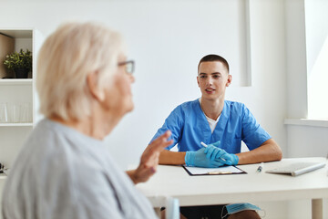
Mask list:
[{"label": "elderly woman with white hair and glasses in grey top", "polygon": [[133,61],[118,33],[96,24],[60,26],[38,57],[36,89],[45,115],[5,183],[3,218],[155,218],[133,183],[156,172],[169,132],[120,172],[103,139],[133,110]]}]

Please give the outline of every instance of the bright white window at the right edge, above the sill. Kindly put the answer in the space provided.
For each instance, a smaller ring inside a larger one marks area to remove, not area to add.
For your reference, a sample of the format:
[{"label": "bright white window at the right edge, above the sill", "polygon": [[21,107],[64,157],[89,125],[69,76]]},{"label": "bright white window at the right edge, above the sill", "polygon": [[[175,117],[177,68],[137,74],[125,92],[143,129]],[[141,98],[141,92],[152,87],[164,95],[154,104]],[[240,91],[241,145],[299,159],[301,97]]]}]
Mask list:
[{"label": "bright white window at the right edge, above the sill", "polygon": [[328,1],[305,0],[308,119],[328,120]]}]

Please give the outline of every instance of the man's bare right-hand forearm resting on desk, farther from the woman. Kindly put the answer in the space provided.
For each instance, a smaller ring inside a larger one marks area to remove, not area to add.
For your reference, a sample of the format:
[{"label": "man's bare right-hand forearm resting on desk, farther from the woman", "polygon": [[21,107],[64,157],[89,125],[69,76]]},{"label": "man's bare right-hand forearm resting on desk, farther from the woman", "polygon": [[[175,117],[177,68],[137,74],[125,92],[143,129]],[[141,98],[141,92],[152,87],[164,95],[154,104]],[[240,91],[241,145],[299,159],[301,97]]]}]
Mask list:
[{"label": "man's bare right-hand forearm resting on desk, farther from the woman", "polygon": [[282,150],[272,139],[265,141],[261,147],[252,151],[236,154],[239,157],[238,164],[257,162],[273,162],[282,160]]}]

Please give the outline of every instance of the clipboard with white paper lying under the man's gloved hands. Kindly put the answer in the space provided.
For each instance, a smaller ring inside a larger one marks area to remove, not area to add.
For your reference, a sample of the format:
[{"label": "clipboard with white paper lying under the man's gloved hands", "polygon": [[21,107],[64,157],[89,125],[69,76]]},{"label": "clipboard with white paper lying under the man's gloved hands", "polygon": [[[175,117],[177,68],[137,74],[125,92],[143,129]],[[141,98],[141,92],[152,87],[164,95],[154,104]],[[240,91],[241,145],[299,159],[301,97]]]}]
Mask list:
[{"label": "clipboard with white paper lying under the man's gloved hands", "polygon": [[218,168],[203,168],[203,167],[189,167],[182,165],[183,169],[190,174],[190,176],[199,175],[230,175],[230,174],[247,174],[236,166],[222,166]]}]

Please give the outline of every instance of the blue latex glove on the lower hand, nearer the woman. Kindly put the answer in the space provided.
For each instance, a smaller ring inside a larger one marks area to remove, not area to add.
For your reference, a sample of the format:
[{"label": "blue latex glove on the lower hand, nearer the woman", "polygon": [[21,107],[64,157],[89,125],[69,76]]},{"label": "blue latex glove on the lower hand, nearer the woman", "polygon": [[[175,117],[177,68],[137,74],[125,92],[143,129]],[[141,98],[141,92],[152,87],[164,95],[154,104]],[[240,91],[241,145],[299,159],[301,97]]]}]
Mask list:
[{"label": "blue latex glove on the lower hand, nearer the woman", "polygon": [[220,167],[224,163],[219,161],[212,161],[206,157],[205,148],[201,148],[199,151],[187,151],[185,156],[185,162],[187,166],[197,166],[197,167]]}]

